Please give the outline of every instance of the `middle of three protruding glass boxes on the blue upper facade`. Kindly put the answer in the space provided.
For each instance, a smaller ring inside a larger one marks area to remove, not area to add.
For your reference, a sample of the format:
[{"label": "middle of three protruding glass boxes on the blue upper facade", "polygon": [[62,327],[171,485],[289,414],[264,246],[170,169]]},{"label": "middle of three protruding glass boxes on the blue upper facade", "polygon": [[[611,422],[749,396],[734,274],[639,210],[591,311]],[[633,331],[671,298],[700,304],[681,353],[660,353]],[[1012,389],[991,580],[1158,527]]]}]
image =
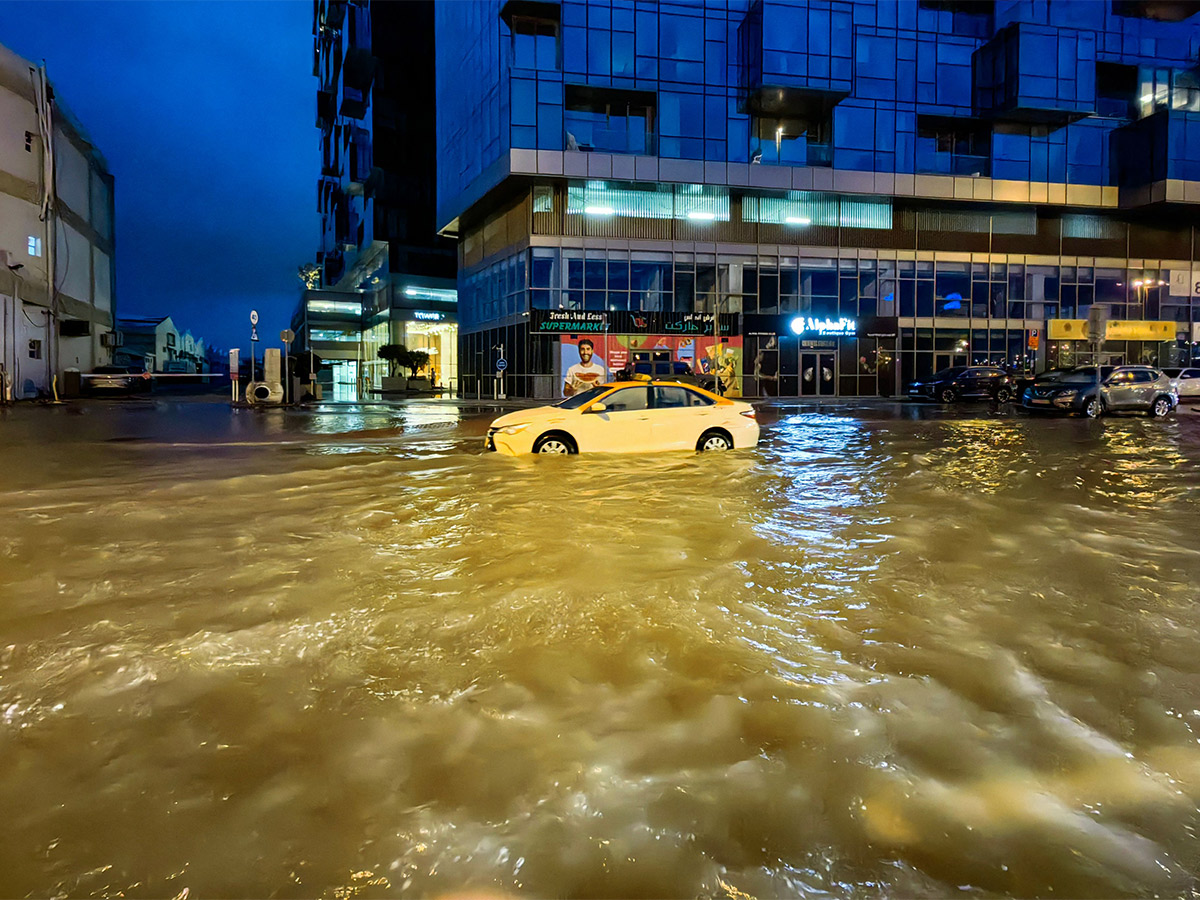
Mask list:
[{"label": "middle of three protruding glass boxes on the blue upper facade", "polygon": [[976,114],[1062,126],[1096,112],[1096,36],[1014,23],[974,52]]}]

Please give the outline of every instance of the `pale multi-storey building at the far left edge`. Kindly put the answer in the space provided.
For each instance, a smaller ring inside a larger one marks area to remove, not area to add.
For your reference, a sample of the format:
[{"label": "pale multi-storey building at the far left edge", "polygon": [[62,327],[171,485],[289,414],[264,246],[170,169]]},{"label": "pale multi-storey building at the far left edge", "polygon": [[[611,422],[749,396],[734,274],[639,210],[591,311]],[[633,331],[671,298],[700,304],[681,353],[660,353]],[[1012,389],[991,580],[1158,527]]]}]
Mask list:
[{"label": "pale multi-storey building at the far left edge", "polygon": [[16,398],[112,361],[113,256],[103,156],[44,71],[0,46],[0,367]]}]

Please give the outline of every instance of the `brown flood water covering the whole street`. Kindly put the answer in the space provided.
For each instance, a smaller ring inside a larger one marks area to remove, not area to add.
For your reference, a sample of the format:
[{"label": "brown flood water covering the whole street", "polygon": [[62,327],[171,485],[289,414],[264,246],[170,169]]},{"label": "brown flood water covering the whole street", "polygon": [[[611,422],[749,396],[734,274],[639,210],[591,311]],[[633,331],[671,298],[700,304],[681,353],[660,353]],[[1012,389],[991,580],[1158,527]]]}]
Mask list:
[{"label": "brown flood water covering the whole street", "polygon": [[1200,416],[766,419],[0,410],[0,895],[1193,890]]}]

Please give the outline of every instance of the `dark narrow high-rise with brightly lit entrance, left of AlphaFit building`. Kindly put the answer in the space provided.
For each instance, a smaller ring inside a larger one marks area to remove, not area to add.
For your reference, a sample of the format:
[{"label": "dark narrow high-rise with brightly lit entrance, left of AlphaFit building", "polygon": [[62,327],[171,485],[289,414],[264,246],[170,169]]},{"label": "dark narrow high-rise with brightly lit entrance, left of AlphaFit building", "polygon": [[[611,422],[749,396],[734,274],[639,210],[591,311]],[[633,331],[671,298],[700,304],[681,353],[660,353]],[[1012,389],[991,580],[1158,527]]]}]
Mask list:
[{"label": "dark narrow high-rise with brightly lit entrance, left of AlphaFit building", "polygon": [[293,317],[326,392],[383,388],[383,344],[425,350],[457,383],[454,242],[434,222],[433,4],[316,0],[322,168],[317,271]]}]

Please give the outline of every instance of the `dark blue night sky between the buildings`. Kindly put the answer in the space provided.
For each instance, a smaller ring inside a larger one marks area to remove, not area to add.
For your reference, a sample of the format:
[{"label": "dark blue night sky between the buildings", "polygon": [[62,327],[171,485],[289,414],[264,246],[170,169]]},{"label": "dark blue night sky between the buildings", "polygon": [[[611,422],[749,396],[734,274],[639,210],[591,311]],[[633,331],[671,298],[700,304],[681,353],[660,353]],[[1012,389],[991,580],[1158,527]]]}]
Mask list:
[{"label": "dark blue night sky between the buildings", "polygon": [[116,179],[118,316],[277,343],[317,250],[312,2],[7,2]]}]

